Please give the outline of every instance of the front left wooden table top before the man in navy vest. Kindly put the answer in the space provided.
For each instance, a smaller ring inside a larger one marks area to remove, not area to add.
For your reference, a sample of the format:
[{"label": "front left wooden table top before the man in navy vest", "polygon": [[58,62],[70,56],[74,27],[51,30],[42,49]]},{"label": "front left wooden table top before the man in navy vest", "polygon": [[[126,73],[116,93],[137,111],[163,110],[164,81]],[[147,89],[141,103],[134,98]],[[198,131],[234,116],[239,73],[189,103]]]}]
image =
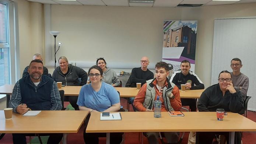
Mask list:
[{"label": "front left wooden table top before the man in navy vest", "polygon": [[49,110],[38,116],[13,113],[6,120],[0,110],[0,133],[77,133],[87,115],[84,110]]}]

